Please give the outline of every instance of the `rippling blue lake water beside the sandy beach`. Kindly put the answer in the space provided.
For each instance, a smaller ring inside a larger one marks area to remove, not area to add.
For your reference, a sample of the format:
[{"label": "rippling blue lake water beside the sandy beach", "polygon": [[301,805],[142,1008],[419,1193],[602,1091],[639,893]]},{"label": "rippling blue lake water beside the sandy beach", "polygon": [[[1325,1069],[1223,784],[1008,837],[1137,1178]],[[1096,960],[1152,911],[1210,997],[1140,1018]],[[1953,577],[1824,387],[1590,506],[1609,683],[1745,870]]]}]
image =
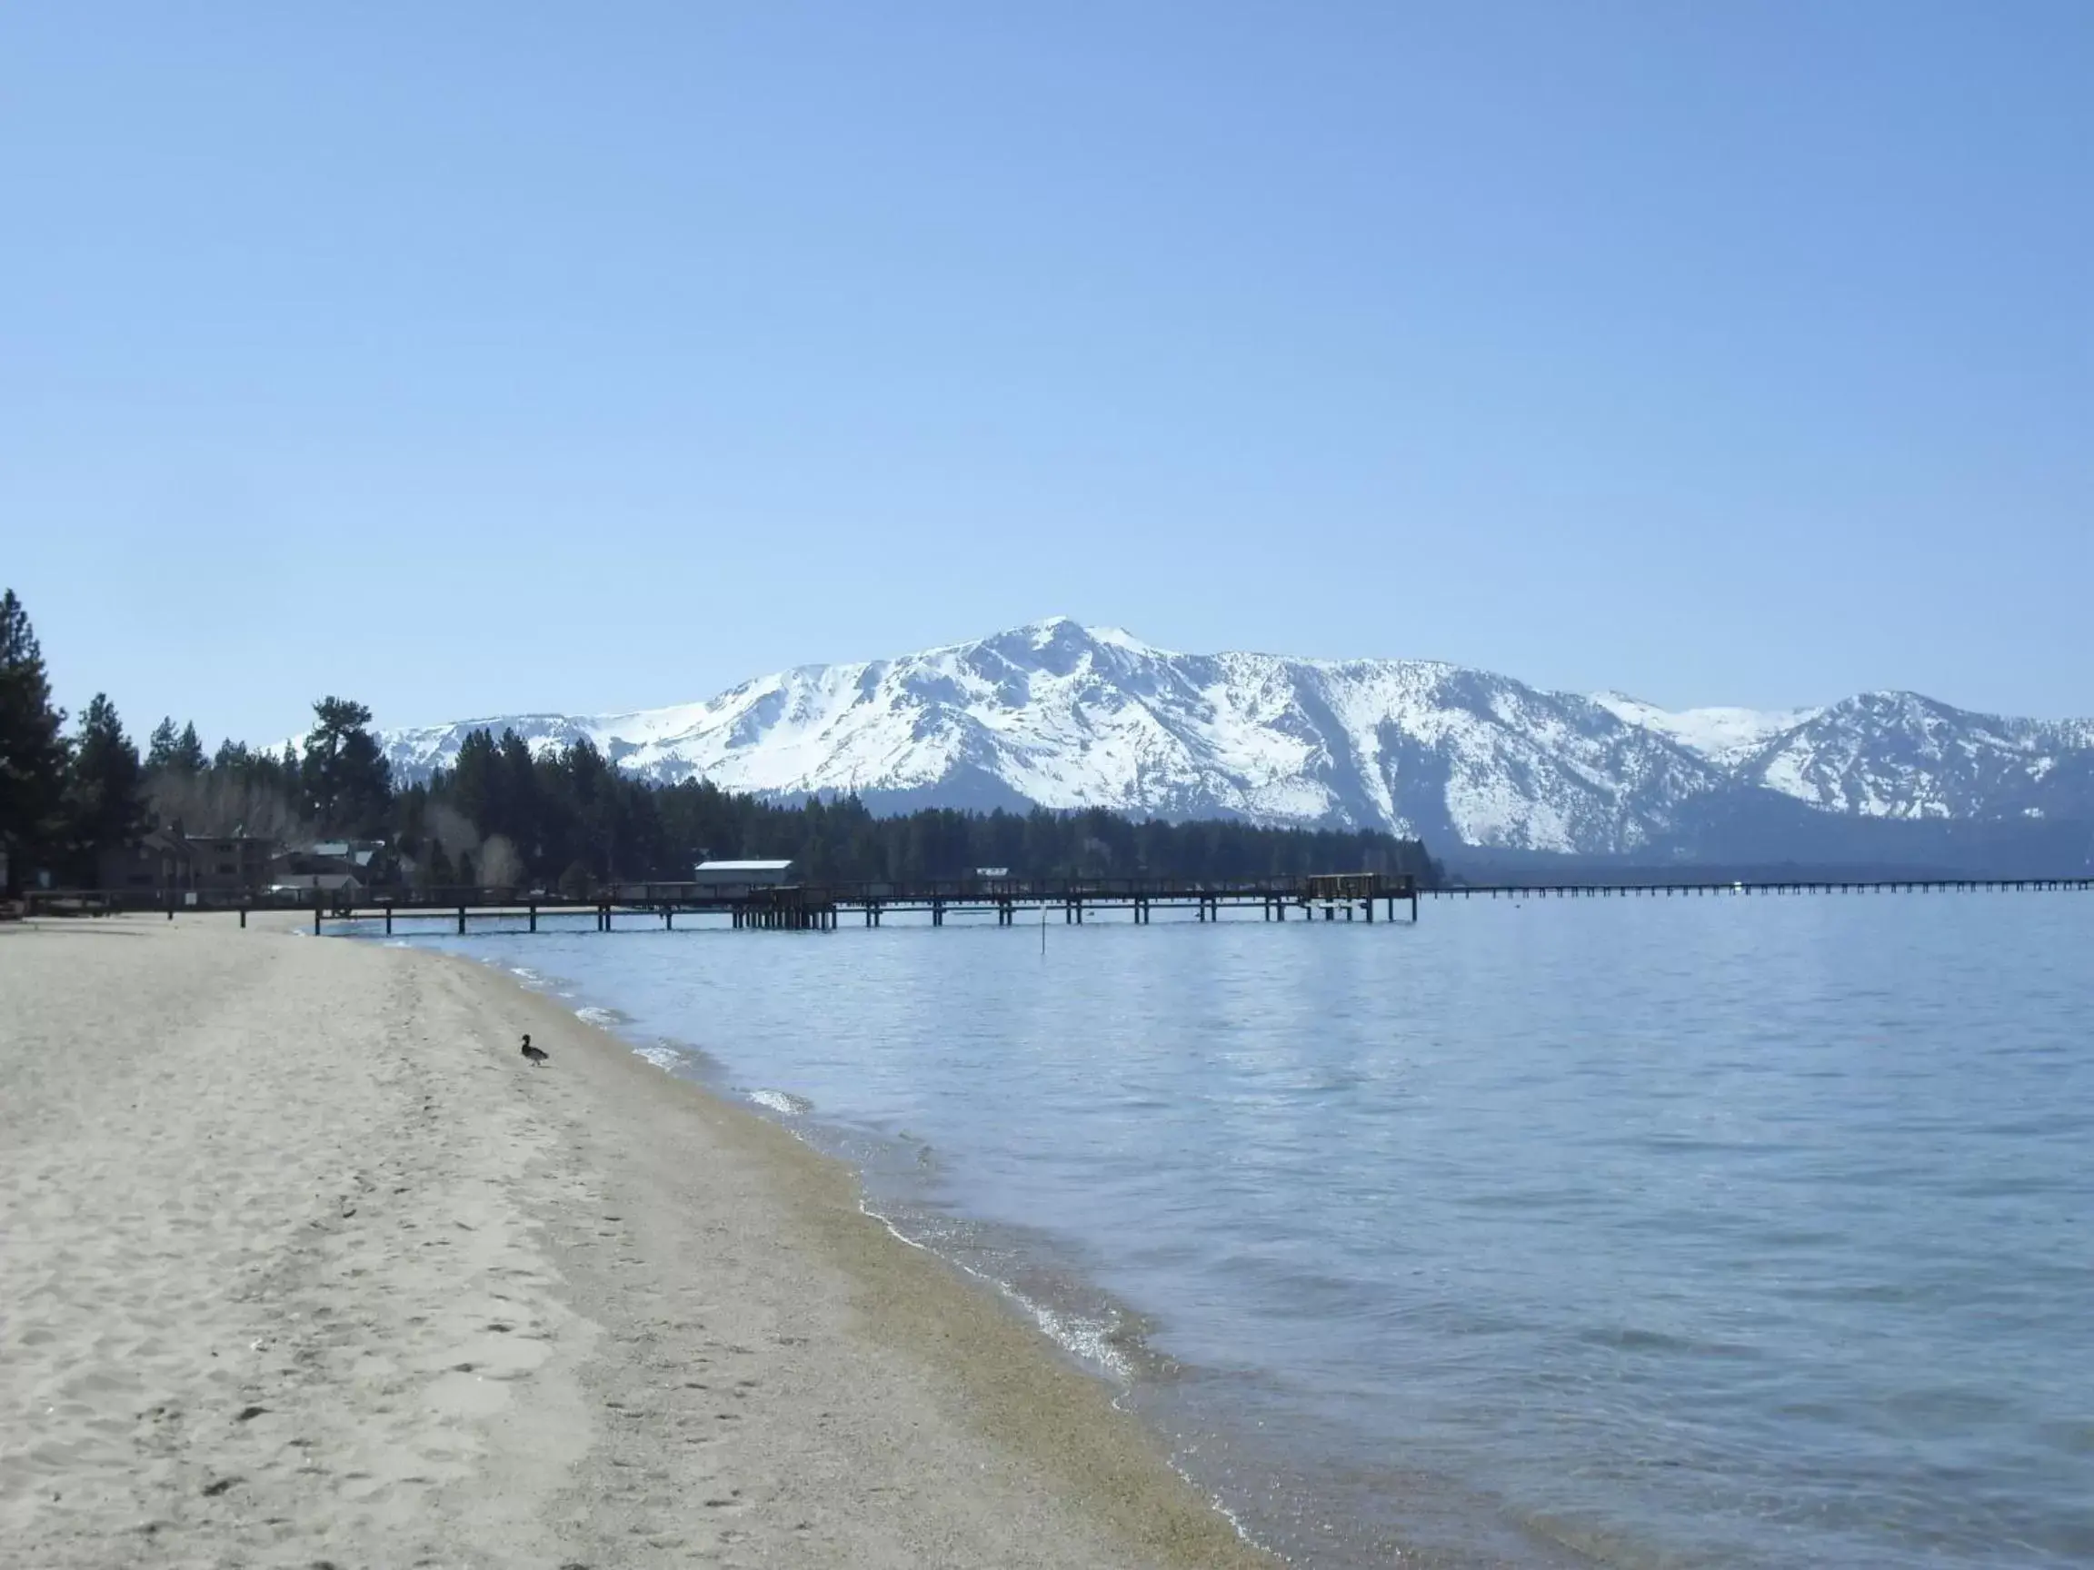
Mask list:
[{"label": "rippling blue lake water beside the sandy beach", "polygon": [[2094,1562],[2094,898],[1422,917],[427,942],[854,1160],[1300,1564]]}]

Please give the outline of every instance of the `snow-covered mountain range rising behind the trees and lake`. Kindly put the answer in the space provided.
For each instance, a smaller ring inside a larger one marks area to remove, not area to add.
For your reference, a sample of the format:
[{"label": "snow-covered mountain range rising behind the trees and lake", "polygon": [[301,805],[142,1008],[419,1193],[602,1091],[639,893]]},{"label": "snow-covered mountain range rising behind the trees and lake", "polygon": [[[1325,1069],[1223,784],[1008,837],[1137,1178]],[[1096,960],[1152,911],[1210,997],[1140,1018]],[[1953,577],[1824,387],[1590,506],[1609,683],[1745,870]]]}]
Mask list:
[{"label": "snow-covered mountain range rising behind the trees and lake", "polygon": [[1168,653],[1062,618],[785,670],[704,703],[383,741],[415,777],[475,728],[532,747],[586,737],[622,768],[737,791],[1374,827],[1449,848],[1642,852],[1740,793],[1868,818],[2094,816],[2094,722],[2002,720],[1912,693],[1667,712],[1418,659]]}]

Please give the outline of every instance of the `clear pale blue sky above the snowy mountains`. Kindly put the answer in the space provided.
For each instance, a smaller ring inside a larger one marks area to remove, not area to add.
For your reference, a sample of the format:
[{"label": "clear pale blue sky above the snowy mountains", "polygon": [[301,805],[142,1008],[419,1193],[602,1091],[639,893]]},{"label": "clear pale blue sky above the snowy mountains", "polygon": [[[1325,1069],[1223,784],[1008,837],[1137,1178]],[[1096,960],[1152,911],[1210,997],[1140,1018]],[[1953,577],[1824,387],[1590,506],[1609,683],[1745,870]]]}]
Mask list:
[{"label": "clear pale blue sky above the snowy mountains", "polygon": [[281,737],[1049,613],[2094,714],[2094,4],[25,4],[0,582]]}]

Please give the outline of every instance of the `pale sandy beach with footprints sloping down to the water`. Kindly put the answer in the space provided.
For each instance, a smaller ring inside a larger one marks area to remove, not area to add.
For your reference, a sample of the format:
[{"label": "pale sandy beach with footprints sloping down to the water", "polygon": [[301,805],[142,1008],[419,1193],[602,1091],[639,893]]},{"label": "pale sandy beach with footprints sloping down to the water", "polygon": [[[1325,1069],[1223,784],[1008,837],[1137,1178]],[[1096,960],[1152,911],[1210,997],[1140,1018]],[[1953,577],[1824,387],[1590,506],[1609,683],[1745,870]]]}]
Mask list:
[{"label": "pale sandy beach with footprints sloping down to the water", "polygon": [[0,929],[0,1543],[1267,1564],[781,1128],[484,967],[226,917]]}]

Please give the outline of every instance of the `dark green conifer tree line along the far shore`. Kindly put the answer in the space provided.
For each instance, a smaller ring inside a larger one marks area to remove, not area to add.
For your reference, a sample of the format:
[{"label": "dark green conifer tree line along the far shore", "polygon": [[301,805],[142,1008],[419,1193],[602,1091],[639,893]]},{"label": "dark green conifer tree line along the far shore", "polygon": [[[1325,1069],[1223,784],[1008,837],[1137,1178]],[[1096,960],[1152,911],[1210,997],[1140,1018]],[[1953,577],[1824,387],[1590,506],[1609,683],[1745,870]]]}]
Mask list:
[{"label": "dark green conifer tree line along the far shore", "polygon": [[704,779],[637,779],[588,739],[534,749],[515,731],[475,731],[452,766],[400,779],[366,705],[331,695],[312,708],[297,747],[224,741],[207,752],[193,722],[163,718],[140,756],[105,693],[67,724],[29,615],[6,590],[6,894],[121,881],[119,869],[138,865],[136,846],[151,833],[264,846],[268,854],[241,862],[243,879],[320,867],[318,852],[356,848],[364,888],[542,888],[576,898],[618,881],[685,879],[708,856],[792,858],[808,881],[917,881],[978,867],[1187,881],[1376,871],[1430,883],[1439,873],[1420,842],[1378,831],[1171,823],[1104,808],[879,816],[854,795],[779,802]]}]

